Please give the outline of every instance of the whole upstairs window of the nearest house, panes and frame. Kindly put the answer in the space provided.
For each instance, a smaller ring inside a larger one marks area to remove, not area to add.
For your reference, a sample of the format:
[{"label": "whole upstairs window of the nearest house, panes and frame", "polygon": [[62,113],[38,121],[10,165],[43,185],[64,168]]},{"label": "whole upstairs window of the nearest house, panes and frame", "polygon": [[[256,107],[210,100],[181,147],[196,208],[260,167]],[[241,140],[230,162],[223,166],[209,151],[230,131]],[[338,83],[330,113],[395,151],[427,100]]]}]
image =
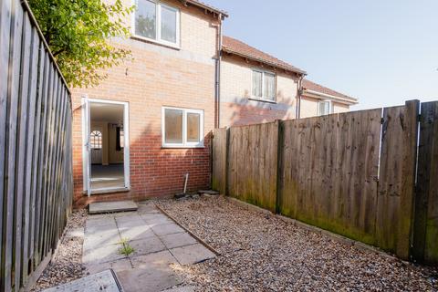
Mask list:
[{"label": "whole upstairs window of the nearest house, panes and frame", "polygon": [[136,0],[134,34],[164,44],[179,43],[180,11],[159,1]]}]

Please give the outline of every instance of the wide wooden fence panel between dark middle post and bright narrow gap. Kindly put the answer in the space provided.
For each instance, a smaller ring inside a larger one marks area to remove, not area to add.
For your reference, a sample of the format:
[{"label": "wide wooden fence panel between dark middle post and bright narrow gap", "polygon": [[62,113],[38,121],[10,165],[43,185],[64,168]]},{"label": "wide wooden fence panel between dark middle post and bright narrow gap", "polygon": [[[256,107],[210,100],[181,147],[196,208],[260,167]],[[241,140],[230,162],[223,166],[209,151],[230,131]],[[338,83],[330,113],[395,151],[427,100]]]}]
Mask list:
[{"label": "wide wooden fence panel between dark middle post and bright narrow gap", "polygon": [[373,243],[381,110],[284,125],[280,213]]}]

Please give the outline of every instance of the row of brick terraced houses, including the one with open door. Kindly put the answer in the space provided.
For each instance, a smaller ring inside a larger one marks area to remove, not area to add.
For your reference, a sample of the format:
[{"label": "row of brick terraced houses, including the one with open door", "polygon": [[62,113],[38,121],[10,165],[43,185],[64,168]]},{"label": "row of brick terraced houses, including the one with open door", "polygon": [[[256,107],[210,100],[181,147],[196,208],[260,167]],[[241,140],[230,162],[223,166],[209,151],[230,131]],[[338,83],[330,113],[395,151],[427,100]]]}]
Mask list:
[{"label": "row of brick terraced houses, including the one with open door", "polygon": [[[300,100],[318,109],[336,98],[300,94],[305,71],[222,36],[224,11],[196,0],[135,4],[132,36],[110,40],[132,57],[99,86],[72,90],[76,206],[181,193],[187,175],[188,191],[209,188],[215,127],[294,119]],[[347,99],[331,109],[348,110],[356,101]]]}]

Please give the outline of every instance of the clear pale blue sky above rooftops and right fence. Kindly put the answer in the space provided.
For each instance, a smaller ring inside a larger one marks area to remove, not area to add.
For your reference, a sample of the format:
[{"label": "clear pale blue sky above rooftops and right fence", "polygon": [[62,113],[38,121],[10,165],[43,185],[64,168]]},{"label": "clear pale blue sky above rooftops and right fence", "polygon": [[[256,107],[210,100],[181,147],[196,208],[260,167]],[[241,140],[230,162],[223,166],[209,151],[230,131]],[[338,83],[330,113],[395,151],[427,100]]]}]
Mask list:
[{"label": "clear pale blue sky above rooftops and right fence", "polygon": [[352,110],[438,100],[438,0],[203,0],[224,35],[358,98]]}]

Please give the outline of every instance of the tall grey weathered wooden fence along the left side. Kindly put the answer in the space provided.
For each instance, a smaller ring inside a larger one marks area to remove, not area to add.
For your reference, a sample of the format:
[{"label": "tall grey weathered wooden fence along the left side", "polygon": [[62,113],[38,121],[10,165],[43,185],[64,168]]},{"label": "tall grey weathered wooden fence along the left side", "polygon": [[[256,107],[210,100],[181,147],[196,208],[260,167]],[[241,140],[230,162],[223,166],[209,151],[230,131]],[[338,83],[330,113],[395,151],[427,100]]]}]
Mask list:
[{"label": "tall grey weathered wooden fence along the left side", "polygon": [[71,100],[26,2],[0,2],[0,290],[26,287],[71,213]]}]

